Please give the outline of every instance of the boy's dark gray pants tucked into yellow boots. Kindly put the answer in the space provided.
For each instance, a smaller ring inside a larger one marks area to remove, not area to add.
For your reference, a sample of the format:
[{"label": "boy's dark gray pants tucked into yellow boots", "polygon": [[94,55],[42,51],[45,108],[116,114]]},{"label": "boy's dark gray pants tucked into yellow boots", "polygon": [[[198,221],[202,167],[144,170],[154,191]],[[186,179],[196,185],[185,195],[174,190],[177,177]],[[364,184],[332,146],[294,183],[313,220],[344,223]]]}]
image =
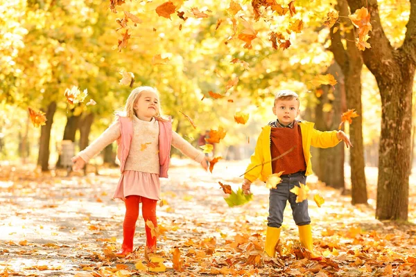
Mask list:
[{"label": "boy's dark gray pants tucked into yellow boots", "polygon": [[288,200],[292,207],[293,220],[295,220],[296,225],[311,224],[311,217],[308,214],[308,201],[304,200],[296,203],[297,195],[290,192],[295,186],[300,186],[299,183],[306,184],[306,176],[300,172],[285,176],[281,178],[281,183],[277,184],[276,188],[270,189],[267,226],[280,228],[283,222],[283,211]]}]

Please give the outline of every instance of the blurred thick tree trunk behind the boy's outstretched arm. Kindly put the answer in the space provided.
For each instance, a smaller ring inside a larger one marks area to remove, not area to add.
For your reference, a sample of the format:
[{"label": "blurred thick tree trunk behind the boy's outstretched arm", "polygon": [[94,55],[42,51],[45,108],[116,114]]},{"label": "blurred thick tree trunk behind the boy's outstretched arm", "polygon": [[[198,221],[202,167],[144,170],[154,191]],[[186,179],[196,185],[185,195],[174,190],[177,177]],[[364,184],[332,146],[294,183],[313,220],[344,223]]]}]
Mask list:
[{"label": "blurred thick tree trunk behind the boy's outstretched arm", "polygon": [[[329,66],[327,73],[334,75],[339,84],[333,89],[331,86],[322,86],[320,104],[315,111],[316,129],[320,131],[332,131],[338,129],[341,122],[342,98],[343,98],[343,76],[336,62]],[[330,111],[322,111],[324,105],[331,105]],[[318,179],[331,188],[345,188],[344,181],[344,148],[337,145],[334,148],[319,149],[319,170],[316,172]]]}]

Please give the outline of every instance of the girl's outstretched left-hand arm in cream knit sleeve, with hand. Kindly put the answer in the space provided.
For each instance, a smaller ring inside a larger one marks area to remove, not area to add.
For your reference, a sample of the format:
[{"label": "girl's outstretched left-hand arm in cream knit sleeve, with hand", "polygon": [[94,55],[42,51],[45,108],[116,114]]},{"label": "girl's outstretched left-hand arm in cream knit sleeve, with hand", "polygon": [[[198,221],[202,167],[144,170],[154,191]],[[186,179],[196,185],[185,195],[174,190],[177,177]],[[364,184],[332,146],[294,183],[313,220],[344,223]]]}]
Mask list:
[{"label": "girl's outstretched left-hand arm in cream knit sleeve, with hand", "polygon": [[119,139],[119,136],[121,136],[120,122],[116,121],[112,123],[112,125],[110,125],[110,127],[108,127],[103,132],[103,134],[101,134],[101,136],[98,136],[98,138],[93,141],[87,148],[72,158],[74,163],[73,170],[83,168],[85,163],[88,163],[89,159],[92,159],[96,154],[101,152],[105,146],[109,145],[116,139]]}]

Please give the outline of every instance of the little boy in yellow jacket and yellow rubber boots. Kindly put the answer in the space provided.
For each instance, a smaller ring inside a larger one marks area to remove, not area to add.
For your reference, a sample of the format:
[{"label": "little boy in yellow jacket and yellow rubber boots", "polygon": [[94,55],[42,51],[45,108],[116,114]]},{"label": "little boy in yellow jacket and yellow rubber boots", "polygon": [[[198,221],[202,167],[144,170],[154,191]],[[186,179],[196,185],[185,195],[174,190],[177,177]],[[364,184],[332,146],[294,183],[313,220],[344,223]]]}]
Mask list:
[{"label": "little boy in yellow jacket and yellow rubber boots", "polygon": [[[250,184],[258,177],[261,181],[266,181],[272,173],[284,171],[281,175],[281,183],[277,184],[276,188],[270,189],[264,251],[270,257],[275,256],[283,211],[288,200],[293,211],[293,220],[299,228],[300,243],[311,252],[313,260],[321,260],[322,256],[313,252],[308,201],[296,203],[297,195],[290,190],[300,186],[300,183],[306,184],[306,176],[312,174],[311,146],[330,148],[344,141],[348,148],[352,143],[343,131],[320,132],[313,128],[314,123],[295,120],[300,112],[299,106],[299,96],[293,91],[279,91],[275,96],[273,114],[277,116],[277,120],[268,123],[261,131],[251,163],[247,168],[247,170],[253,169],[244,175],[243,191],[246,194],[250,193]],[[268,162],[291,148],[293,150],[281,159]],[[262,163],[263,166],[257,166]]]}]

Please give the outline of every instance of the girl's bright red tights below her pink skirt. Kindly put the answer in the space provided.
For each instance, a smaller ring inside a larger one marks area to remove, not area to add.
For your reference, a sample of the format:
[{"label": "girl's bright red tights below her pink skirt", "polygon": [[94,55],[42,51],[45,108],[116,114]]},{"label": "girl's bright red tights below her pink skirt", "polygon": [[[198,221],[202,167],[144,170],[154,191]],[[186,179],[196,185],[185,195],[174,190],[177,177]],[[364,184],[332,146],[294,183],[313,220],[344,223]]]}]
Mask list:
[{"label": "girl's bright red tights below her pink skirt", "polygon": [[152,237],[150,228],[146,222],[150,220],[157,227],[156,203],[157,200],[148,199],[139,195],[125,197],[125,217],[123,222],[123,247],[122,251],[133,250],[133,239],[135,238],[136,222],[139,217],[139,203],[141,202],[141,215],[143,215],[146,229],[146,246],[148,249],[155,249],[156,237]]}]

